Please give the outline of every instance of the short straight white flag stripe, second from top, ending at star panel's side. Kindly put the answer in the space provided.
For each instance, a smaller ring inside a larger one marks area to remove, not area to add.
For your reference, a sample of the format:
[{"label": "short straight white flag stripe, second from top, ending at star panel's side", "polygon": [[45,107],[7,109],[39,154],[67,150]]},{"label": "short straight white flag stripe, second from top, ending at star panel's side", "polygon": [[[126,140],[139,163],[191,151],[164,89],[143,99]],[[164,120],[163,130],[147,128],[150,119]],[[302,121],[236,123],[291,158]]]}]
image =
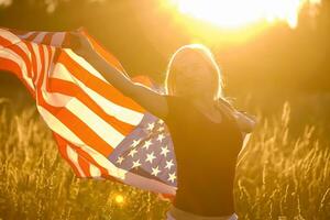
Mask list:
[{"label": "short straight white flag stripe, second from top, ending at star panel's side", "polygon": [[98,136],[105,140],[113,148],[117,147],[124,139],[120,132],[113,129],[109,123],[102,120],[98,114],[91,111],[77,98],[73,98],[66,109],[78,117],[86,125],[88,125]]}]

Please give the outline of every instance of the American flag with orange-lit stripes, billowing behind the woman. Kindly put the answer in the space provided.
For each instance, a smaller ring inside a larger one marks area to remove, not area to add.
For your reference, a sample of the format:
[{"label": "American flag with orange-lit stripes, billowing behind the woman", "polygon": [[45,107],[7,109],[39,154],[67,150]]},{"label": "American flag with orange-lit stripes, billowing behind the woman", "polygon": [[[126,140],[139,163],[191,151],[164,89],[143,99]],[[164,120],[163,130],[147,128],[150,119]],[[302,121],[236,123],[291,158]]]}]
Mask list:
[{"label": "American flag with orange-lit stripes, billowing behind the woman", "polygon": [[[118,59],[86,30],[107,62]],[[0,29],[0,69],[13,73],[36,101],[61,155],[80,178],[128,184],[173,199],[176,160],[168,129],[75,54],[69,32]],[[132,78],[163,94],[146,76]]]}]

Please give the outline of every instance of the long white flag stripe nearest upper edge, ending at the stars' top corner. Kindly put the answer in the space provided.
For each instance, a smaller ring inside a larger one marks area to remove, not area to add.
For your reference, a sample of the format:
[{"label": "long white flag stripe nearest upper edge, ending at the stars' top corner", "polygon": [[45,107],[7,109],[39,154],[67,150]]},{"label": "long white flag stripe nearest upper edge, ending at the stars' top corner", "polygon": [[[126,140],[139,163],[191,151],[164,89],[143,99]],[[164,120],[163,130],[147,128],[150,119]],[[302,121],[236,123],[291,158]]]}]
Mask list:
[{"label": "long white flag stripe nearest upper edge, ending at the stars' top corner", "polygon": [[92,89],[88,88],[82,81],[74,77],[69,73],[69,70],[61,63],[55,65],[54,72],[52,73],[53,78],[58,78],[63,80],[67,80],[70,82],[76,84],[80,87],[97,105],[103,109],[109,116],[117,118],[120,121],[125,123],[138,125],[141,120],[143,119],[143,113],[133,111],[129,108],[124,108],[122,106],[116,105],[112,101],[106,99],[105,97],[100,96]]}]

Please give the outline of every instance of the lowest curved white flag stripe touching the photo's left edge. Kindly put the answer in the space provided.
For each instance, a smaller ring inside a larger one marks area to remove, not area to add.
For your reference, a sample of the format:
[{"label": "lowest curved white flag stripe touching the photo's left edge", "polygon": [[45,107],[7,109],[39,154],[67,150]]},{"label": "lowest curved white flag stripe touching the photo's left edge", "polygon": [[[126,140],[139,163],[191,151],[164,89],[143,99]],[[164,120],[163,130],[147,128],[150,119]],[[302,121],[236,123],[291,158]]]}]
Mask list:
[{"label": "lowest curved white flag stripe touching the photo's left edge", "polygon": [[22,70],[22,77],[24,79],[24,81],[26,81],[28,86],[32,89],[34,89],[34,85],[32,82],[32,79],[28,77],[28,69],[26,69],[26,65],[24,63],[24,61],[21,58],[20,55],[18,55],[15,52],[11,51],[10,48],[1,48],[0,50],[0,57],[6,58],[6,59],[10,59],[14,63],[16,63],[21,70]]}]

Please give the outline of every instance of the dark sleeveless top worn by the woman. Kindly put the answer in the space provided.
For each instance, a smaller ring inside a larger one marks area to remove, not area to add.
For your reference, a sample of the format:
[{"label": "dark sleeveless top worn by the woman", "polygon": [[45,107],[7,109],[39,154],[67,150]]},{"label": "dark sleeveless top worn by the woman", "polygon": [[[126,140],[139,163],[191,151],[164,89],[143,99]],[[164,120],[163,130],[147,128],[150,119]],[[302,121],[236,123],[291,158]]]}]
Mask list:
[{"label": "dark sleeveless top worn by the woman", "polygon": [[242,134],[222,113],[212,122],[186,98],[165,95],[167,124],[177,162],[174,206],[200,216],[234,212],[233,182]]}]

